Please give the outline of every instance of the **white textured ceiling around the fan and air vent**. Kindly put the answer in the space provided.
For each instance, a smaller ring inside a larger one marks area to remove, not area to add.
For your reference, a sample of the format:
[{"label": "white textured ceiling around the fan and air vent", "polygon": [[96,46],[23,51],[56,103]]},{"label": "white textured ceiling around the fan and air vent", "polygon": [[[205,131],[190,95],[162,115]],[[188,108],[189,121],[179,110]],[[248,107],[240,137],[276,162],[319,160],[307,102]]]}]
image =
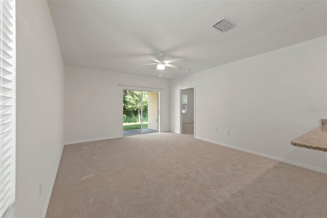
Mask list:
[{"label": "white textured ceiling around the fan and air vent", "polygon": [[[66,64],[174,78],[327,35],[326,1],[49,1]],[[237,27],[211,26],[226,17]],[[186,72],[186,69],[191,69]]]}]

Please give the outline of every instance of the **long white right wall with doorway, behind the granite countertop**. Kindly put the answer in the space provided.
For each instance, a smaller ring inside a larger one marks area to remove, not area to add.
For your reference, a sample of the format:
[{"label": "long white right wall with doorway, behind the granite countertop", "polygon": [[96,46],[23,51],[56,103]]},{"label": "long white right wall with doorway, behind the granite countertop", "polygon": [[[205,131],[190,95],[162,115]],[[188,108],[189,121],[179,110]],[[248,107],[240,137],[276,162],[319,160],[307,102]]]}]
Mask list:
[{"label": "long white right wall with doorway, behind the granite countertop", "polygon": [[179,89],[192,85],[196,137],[327,172],[324,152],[290,144],[327,118],[326,36],[174,79],[174,132]]}]

